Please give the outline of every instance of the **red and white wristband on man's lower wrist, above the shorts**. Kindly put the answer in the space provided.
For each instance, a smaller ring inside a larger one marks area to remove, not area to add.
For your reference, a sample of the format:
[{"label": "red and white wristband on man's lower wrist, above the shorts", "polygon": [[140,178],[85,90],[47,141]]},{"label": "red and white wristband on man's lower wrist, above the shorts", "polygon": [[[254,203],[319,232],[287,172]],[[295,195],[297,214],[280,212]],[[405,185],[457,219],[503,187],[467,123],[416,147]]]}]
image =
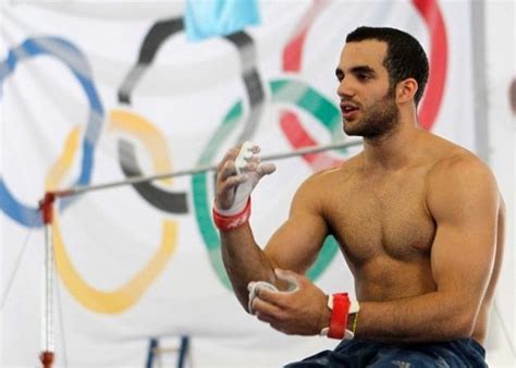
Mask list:
[{"label": "red and white wristband on man's lower wrist, above the shorts", "polygon": [[[347,293],[328,296],[328,308],[331,310],[330,326],[321,330],[320,335],[339,340],[352,340],[355,336],[356,322],[360,305],[349,298]],[[355,315],[353,331],[346,329],[348,315]]]}]

